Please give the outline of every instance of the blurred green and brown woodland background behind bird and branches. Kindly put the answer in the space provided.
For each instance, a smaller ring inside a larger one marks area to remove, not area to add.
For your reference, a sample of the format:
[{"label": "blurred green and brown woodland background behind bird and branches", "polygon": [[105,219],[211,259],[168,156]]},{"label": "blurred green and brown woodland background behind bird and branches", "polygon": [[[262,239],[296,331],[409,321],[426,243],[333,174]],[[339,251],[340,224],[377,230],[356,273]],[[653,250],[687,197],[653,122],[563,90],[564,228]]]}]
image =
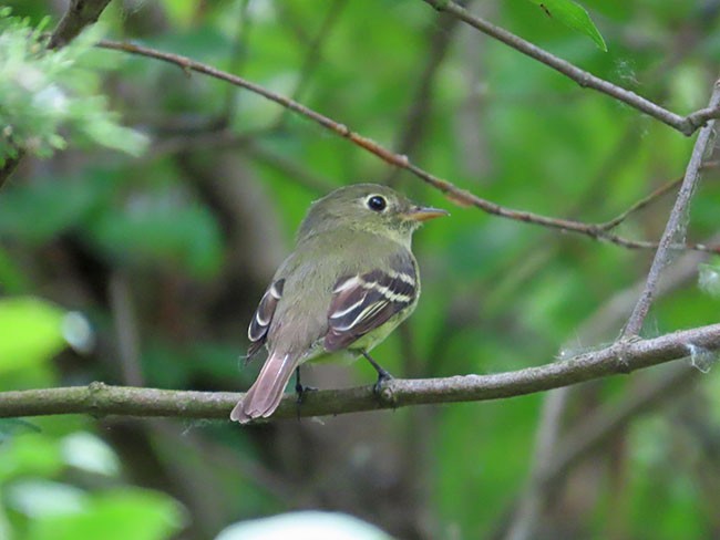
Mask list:
[{"label": "blurred green and brown woodland background behind bird and branches", "polygon": [[[4,3],[33,25],[50,17],[50,29],[65,8]],[[607,52],[526,0],[467,3],[680,114],[706,106],[720,74],[717,0],[585,0]],[[681,175],[691,149],[420,0],[113,0],[101,22],[107,38],[237,73],[514,208],[606,221]],[[456,207],[226,83],[113,51],[82,63],[150,145],[133,156],[61,131],[66,150],[24,159],[0,190],[0,390],[247,388],[259,365],[239,360],[246,328],[276,264],[310,201],[356,181],[452,211],[415,236],[420,307],[376,351],[397,376],[503,372],[600,346],[649,268],[649,251]],[[717,233],[717,178],[709,167],[690,240]],[[659,238],[671,202],[659,198],[619,232]],[[699,264],[713,262],[681,252],[673,262],[645,335],[718,320],[717,298],[698,284]],[[298,509],[342,511],[403,539],[718,538],[712,361],[700,352],[565,392],[257,427],[2,420],[0,538],[207,539]],[[373,380],[357,363],[309,368],[304,383]],[[533,484],[538,470],[553,474]]]}]

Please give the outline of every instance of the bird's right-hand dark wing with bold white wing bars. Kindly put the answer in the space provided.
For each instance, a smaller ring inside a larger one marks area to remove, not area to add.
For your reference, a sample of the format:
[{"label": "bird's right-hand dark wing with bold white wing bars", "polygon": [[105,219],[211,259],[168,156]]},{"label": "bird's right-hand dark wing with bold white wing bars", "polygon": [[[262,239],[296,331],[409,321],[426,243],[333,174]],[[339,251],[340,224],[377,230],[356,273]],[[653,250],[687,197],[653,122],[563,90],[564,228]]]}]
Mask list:
[{"label": "bird's right-hand dark wing with bold white wing bars", "polygon": [[393,261],[387,270],[344,276],[332,289],[326,351],[346,349],[385,323],[416,300],[418,278],[412,257]]}]

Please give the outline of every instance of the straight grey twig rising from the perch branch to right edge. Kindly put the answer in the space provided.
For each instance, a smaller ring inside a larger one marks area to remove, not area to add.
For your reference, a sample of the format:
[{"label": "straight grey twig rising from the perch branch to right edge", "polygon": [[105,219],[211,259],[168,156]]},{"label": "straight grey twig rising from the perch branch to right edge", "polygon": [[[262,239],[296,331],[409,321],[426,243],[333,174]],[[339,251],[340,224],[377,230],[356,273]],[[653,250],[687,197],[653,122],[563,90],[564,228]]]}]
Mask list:
[{"label": "straight grey twig rising from the perch branch to right edge", "polygon": [[[709,108],[714,108],[720,104],[720,81],[716,82],[712,95],[710,96]],[[640,333],[642,329],[642,323],[645,318],[650,310],[650,304],[652,303],[652,297],[655,295],[655,289],[660,279],[660,273],[665,268],[665,264],[668,261],[669,252],[672,243],[675,243],[676,238],[683,238],[687,224],[685,222],[688,208],[690,206],[690,200],[692,199],[692,194],[695,193],[696,185],[700,178],[700,166],[702,165],[702,158],[706,154],[710,139],[712,138],[712,132],[714,127],[714,121],[708,122],[708,125],[700,129],[698,139],[695,143],[692,148],[692,154],[690,155],[690,160],[688,162],[688,168],[685,173],[685,179],[682,180],[682,186],[680,187],[680,193],[678,198],[675,201],[672,211],[668,219],[667,226],[665,227],[665,232],[660,239],[658,250],[655,253],[655,259],[650,266],[650,271],[648,272],[648,278],[645,283],[645,289],[640,294],[635,309],[628,319],[628,322],[623,331],[623,336],[635,336]]]}]

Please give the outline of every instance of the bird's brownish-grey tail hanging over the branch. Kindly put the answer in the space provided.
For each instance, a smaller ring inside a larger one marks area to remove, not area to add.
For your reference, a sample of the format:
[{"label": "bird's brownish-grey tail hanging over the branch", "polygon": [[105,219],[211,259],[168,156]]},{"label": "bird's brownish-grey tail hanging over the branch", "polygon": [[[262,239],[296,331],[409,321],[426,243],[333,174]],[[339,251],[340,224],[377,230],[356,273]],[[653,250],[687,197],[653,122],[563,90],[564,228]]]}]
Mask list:
[{"label": "bird's brownish-grey tail hanging over the branch", "polygon": [[250,390],[235,405],[230,419],[246,424],[254,418],[270,416],[280,404],[285,386],[296,366],[297,360],[290,354],[270,354]]}]

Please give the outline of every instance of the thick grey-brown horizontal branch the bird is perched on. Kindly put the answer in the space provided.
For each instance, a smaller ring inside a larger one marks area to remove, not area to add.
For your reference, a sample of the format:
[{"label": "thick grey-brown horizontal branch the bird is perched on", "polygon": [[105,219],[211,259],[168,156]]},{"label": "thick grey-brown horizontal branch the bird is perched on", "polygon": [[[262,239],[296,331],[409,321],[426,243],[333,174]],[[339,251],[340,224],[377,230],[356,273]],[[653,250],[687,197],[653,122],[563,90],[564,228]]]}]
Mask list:
[{"label": "thick grey-brown horizontal branch the bird is perched on", "polygon": [[[285,396],[272,416],[326,416],[408,405],[477,402],[513,397],[577,384],[686,357],[690,350],[720,349],[720,324],[624,342],[593,353],[538,367],[494,375],[391,380],[378,397],[372,386],[310,392],[300,407],[295,395]],[[183,392],[156,388],[89,386],[0,393],[0,417],[55,414],[173,416],[226,419],[243,394]]]}]

